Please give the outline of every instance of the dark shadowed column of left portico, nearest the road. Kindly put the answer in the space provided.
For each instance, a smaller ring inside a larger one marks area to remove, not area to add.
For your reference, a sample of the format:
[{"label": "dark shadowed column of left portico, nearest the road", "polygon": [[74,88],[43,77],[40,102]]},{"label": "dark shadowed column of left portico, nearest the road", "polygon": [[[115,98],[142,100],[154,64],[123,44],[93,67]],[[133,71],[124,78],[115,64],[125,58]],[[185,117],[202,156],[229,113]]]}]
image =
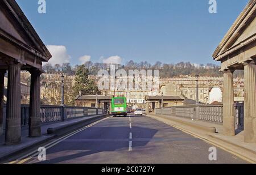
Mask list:
[{"label": "dark shadowed column of left portico, nearest the road", "polygon": [[31,85],[30,85],[30,122],[28,127],[28,135],[41,135],[41,117],[40,117],[40,75],[41,71],[32,69]]}]

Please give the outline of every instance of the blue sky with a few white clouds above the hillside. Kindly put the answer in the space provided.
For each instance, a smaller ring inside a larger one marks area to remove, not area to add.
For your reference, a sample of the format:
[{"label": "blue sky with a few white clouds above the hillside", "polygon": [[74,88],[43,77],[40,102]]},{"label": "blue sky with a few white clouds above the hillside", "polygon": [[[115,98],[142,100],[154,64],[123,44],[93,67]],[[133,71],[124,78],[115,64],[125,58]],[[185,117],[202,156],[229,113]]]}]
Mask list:
[{"label": "blue sky with a few white clouds above the hillside", "polygon": [[50,62],[216,63],[212,54],[249,0],[16,0]]}]

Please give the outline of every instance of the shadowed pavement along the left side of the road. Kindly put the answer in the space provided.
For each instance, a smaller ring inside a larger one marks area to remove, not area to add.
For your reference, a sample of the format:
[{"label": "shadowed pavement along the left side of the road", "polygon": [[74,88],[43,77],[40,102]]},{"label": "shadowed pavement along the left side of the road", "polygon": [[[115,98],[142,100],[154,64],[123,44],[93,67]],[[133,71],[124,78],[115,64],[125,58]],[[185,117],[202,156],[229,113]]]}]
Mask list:
[{"label": "shadowed pavement along the left side of the road", "polygon": [[[98,116],[89,116],[89,117],[82,117],[82,118],[76,118],[76,119],[69,119],[64,122],[53,122],[53,123],[44,123],[41,126],[41,133],[42,136],[30,138],[28,137],[28,127],[22,127],[22,138],[21,142],[19,144],[14,144],[11,146],[5,145],[5,135],[0,135],[0,160],[5,160],[13,155],[18,154],[19,152],[24,152],[27,150],[30,150],[30,148],[38,146],[40,144],[43,144],[45,142],[48,142],[48,140],[51,140],[55,138],[56,134],[47,135],[47,130],[54,129],[54,128],[60,128],[62,130],[65,130],[65,127],[70,125],[77,125],[77,123],[84,123],[85,121],[89,121],[90,119],[94,119],[97,117],[101,117],[102,115]],[[70,131],[70,130],[67,130]]]}]

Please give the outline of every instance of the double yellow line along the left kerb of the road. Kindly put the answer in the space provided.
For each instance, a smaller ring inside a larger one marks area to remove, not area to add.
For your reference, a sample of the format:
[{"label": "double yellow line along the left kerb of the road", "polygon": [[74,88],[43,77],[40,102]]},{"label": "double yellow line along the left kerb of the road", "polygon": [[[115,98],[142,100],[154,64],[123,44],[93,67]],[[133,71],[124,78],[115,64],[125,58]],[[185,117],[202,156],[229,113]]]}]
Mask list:
[{"label": "double yellow line along the left kerb of the road", "polygon": [[[85,129],[87,129],[88,127],[91,127],[91,126],[93,126],[93,125],[96,125],[97,123],[100,123],[100,122],[102,122],[102,121],[104,121],[105,119],[108,119],[108,118],[110,118],[110,117],[103,118],[103,119],[101,119],[101,120],[99,120],[99,121],[97,121],[97,122],[94,122],[94,123],[92,123],[92,124],[90,124],[90,125],[87,125],[87,126],[85,126],[85,127],[82,127],[82,128],[79,129],[79,130],[73,131],[72,133],[69,133],[69,134],[67,134],[67,135],[65,135],[65,136],[62,136],[61,138],[56,139],[56,140],[54,140],[53,142],[48,143],[48,144],[46,144],[46,145],[43,146],[43,147],[46,148],[46,150],[47,150],[47,149],[49,149],[49,148],[55,146],[56,144],[62,142],[63,140],[65,140],[65,139],[71,137],[72,135],[75,135],[75,134],[81,132],[82,130],[85,130]],[[26,163],[28,160],[32,159],[33,157],[38,156],[38,154],[39,154],[38,150],[35,150],[35,151],[30,152],[30,153],[27,153],[27,155],[24,155],[24,156],[20,157],[19,159],[15,160],[15,161],[9,162],[8,164],[23,164],[23,163]]]}]

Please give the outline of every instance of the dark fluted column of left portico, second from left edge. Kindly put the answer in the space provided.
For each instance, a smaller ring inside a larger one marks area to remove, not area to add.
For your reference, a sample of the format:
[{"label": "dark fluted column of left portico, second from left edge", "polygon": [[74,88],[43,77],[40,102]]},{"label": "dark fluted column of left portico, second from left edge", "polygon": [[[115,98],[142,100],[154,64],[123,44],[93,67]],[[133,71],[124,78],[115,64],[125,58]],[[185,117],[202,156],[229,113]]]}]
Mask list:
[{"label": "dark fluted column of left portico, second from left edge", "polygon": [[20,67],[11,63],[8,69],[5,143],[15,144],[21,139],[20,126]]}]

